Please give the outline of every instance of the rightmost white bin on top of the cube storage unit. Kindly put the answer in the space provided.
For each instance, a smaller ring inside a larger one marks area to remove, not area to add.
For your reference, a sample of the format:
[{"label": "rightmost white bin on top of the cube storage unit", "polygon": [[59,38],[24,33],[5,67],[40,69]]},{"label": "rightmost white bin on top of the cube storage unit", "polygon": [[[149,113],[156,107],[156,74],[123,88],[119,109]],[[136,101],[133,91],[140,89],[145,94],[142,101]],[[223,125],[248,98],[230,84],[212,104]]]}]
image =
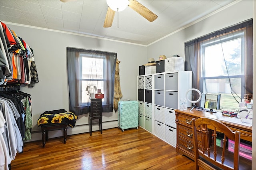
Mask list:
[{"label": "rightmost white bin on top of the cube storage unit", "polygon": [[164,61],[164,71],[184,70],[183,57],[171,57]]}]

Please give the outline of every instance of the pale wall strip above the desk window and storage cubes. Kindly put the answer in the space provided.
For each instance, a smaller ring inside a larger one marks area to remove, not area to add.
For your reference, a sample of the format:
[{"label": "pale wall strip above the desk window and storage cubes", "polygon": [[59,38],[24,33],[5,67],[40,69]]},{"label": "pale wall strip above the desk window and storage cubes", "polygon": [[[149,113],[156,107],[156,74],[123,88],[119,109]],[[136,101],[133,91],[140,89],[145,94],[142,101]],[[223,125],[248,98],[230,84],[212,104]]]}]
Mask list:
[{"label": "pale wall strip above the desk window and storage cubes", "polygon": [[148,46],[148,58],[158,60],[159,55],[184,57],[184,42],[204,36],[253,17],[253,0],[242,0],[190,27]]}]

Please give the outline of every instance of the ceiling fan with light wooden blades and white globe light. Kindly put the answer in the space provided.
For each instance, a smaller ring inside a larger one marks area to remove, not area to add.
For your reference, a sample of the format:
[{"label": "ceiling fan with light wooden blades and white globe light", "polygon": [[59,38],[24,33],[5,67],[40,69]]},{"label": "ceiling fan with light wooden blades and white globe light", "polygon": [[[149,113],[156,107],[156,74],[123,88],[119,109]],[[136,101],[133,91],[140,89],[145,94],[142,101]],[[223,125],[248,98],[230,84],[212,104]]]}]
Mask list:
[{"label": "ceiling fan with light wooden blades and white globe light", "polygon": [[[71,2],[75,0],[60,0],[60,1]],[[144,5],[140,4],[140,2],[136,0],[106,0],[106,1],[108,4],[108,11],[107,11],[106,18],[104,21],[104,26],[103,26],[105,28],[112,26],[116,11],[120,12],[124,10],[127,6],[132,8],[134,11],[138,12],[138,14],[140,14],[150,22],[153,22],[157,18],[156,14],[154,14],[152,11],[150,11],[148,8],[146,8]]]}]

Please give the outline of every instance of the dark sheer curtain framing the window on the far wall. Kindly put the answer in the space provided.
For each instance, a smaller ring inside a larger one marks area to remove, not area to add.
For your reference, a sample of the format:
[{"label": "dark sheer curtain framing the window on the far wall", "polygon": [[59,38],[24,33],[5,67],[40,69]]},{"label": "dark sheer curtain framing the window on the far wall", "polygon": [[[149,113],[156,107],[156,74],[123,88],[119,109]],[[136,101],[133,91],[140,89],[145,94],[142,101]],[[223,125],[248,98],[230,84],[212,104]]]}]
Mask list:
[{"label": "dark sheer curtain framing the window on the far wall", "polygon": [[114,101],[114,76],[116,67],[117,53],[110,53],[106,51],[96,51],[90,49],[78,49],[73,47],[67,47],[67,71],[68,71],[68,90],[69,90],[69,110],[76,115],[82,115],[89,112],[88,103],[80,102],[80,53],[88,53],[91,56],[105,55],[106,56],[106,81],[105,81],[105,94],[104,103],[102,105],[103,112],[113,111]]}]

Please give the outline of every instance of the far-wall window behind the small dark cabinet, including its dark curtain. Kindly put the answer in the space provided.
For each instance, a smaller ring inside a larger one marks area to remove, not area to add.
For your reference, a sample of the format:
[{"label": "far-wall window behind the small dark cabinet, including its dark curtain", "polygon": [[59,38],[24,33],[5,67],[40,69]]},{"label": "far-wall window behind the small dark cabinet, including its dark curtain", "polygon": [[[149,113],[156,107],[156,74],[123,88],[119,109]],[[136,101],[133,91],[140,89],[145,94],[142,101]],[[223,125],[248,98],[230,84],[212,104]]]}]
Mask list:
[{"label": "far-wall window behind the small dark cabinet, including its dark curtain", "polygon": [[88,113],[90,92],[98,89],[104,94],[103,112],[113,111],[115,66],[116,53],[67,47],[70,112]]}]

